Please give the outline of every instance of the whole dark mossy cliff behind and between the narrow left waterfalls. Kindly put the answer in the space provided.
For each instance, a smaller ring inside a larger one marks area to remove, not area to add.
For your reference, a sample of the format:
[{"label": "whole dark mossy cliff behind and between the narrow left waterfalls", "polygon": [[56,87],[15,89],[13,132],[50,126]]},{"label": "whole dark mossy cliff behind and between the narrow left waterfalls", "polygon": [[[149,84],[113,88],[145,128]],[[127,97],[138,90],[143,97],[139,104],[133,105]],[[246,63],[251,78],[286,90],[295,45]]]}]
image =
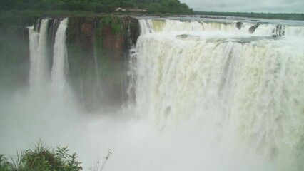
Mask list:
[{"label": "whole dark mossy cliff behind and between the narrow left waterfalls", "polygon": [[[62,18],[61,18],[62,19]],[[48,53],[51,70],[54,37],[60,18],[49,19]],[[0,90],[29,85],[29,30],[41,19],[18,26],[0,26]],[[70,17],[66,30],[69,73],[74,96],[88,109],[121,105],[126,100],[128,50],[139,36],[138,20],[130,16]]]}]

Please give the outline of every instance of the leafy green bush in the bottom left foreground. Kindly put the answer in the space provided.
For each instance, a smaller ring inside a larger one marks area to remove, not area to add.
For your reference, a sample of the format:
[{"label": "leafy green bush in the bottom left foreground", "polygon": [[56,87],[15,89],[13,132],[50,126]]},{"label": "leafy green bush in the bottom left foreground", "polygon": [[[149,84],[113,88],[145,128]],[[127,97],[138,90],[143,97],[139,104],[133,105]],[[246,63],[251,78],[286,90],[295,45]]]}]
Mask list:
[{"label": "leafy green bush in the bottom left foreground", "polygon": [[[21,151],[17,157],[6,158],[0,155],[1,171],[78,171],[82,170],[76,153],[69,155],[68,147],[56,147],[56,150],[45,147],[38,142],[34,149]],[[11,162],[9,162],[11,160]]]}]

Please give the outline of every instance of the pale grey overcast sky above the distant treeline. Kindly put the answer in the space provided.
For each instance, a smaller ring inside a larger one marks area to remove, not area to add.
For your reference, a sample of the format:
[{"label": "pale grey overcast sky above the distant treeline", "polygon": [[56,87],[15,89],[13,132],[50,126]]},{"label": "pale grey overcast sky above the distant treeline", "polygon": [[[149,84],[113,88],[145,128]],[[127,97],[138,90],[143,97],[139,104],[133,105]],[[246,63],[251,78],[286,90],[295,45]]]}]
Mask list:
[{"label": "pale grey overcast sky above the distant treeline", "polygon": [[194,11],[304,13],[304,0],[180,0]]}]

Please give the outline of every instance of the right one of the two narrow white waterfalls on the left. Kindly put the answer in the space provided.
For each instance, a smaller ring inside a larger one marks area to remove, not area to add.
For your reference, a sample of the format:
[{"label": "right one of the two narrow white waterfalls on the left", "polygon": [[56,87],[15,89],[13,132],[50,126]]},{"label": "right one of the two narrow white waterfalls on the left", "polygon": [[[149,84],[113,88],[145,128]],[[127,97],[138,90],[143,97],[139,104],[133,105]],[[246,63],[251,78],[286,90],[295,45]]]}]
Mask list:
[{"label": "right one of the two narrow white waterfalls on the left", "polygon": [[66,83],[66,74],[69,71],[68,53],[66,49],[66,28],[68,19],[60,21],[56,31],[54,43],[54,58],[51,71],[52,86],[60,93],[69,93],[69,85]]}]

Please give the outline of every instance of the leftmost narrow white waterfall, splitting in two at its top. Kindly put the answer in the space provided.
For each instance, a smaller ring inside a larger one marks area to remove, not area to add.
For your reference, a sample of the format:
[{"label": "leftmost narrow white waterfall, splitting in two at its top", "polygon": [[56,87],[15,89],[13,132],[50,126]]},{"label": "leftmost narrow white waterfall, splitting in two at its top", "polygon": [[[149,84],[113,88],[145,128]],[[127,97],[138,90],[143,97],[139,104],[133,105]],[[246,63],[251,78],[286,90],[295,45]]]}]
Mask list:
[{"label": "leftmost narrow white waterfall, splitting in two at its top", "polygon": [[34,26],[29,28],[31,62],[29,84],[32,92],[39,92],[46,88],[49,79],[49,62],[47,59],[48,23],[48,19],[42,19],[39,32],[34,30]]}]

